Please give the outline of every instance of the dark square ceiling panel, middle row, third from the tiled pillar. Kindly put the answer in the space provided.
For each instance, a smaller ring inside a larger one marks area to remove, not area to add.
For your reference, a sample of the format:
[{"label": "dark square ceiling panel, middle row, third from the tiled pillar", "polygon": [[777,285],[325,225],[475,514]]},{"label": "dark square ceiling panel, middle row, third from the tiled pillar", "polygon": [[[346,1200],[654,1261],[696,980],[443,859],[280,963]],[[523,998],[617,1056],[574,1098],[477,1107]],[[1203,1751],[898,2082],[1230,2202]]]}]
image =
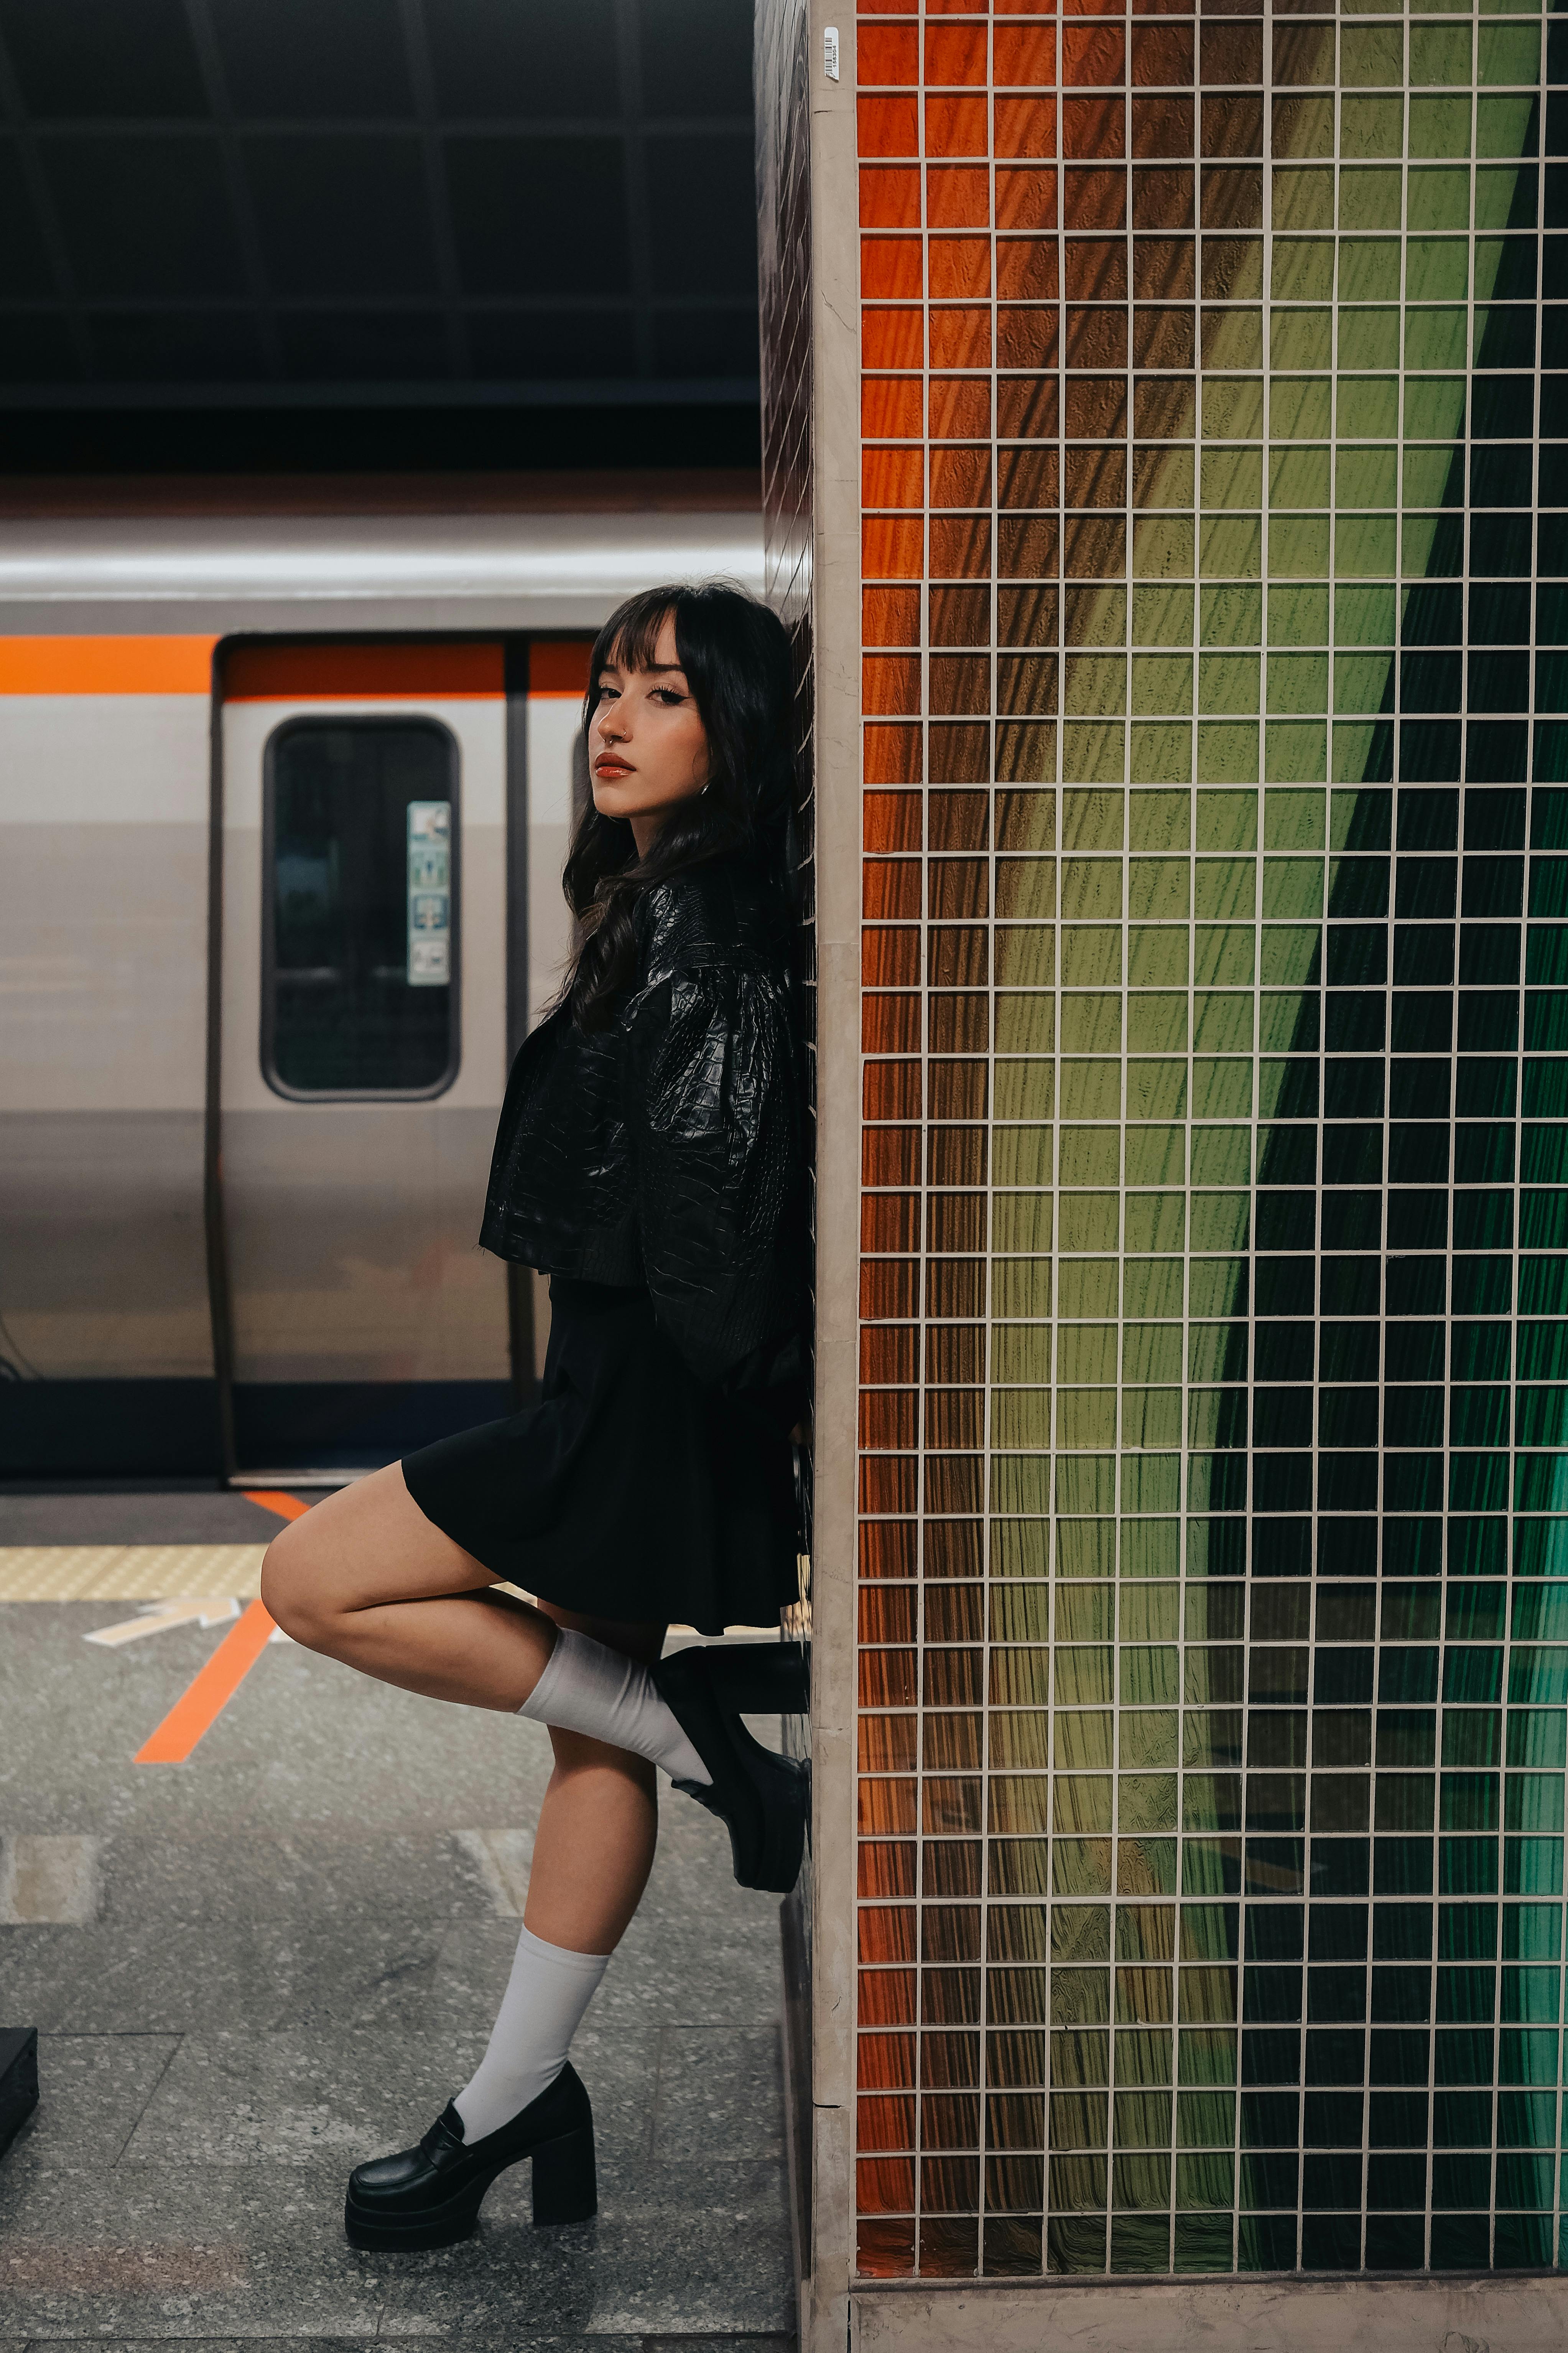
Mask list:
[{"label": "dark square ceiling panel, middle row, third from the tiled pillar", "polygon": [[242,155],[275,294],[435,294],[416,136],[249,136]]}]

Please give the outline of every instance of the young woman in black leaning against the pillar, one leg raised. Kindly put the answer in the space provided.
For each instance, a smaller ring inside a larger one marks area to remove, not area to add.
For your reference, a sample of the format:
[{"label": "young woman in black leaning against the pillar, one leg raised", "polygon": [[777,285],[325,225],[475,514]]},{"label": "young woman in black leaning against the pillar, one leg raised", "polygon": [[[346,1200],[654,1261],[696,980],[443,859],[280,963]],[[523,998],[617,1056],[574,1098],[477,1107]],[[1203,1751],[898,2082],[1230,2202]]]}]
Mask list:
[{"label": "young woman in black leaning against the pillar, one leg raised", "polygon": [[[736,588],[656,588],[599,633],[592,807],[567,859],[581,951],[505,1092],[482,1242],[550,1273],[541,1402],[341,1489],[270,1546],[287,1633],[409,1692],[531,1715],[555,1772],[477,2075],[418,2148],[360,2165],[360,2247],[473,2231],[534,2158],[534,2219],[595,2212],[567,2064],[654,1864],[654,1769],[788,1892],[804,1767],[759,1748],[724,1649],[795,1598],[804,1162],[790,1024],[790,656]],[[498,1593],[505,1579],[536,1605]]]}]

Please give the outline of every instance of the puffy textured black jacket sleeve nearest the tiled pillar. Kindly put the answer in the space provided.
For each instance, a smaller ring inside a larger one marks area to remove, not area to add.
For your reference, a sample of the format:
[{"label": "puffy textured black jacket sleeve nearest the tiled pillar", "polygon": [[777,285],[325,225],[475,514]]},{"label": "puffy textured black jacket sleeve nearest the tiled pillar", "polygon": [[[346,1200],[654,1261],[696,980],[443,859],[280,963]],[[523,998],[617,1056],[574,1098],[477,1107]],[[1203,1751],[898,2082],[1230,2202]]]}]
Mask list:
[{"label": "puffy textured black jacket sleeve nearest the tiled pillar", "polygon": [[[748,960],[750,962],[750,960]],[[785,976],[726,960],[649,986],[628,1134],[654,1315],[703,1381],[802,1320],[799,1073]]]}]

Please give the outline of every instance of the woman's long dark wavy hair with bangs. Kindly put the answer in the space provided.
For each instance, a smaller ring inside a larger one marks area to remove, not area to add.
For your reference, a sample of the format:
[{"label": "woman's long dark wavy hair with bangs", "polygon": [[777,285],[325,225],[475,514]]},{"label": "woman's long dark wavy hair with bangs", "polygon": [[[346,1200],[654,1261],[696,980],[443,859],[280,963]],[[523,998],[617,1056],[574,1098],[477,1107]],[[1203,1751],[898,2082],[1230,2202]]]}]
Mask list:
[{"label": "woman's long dark wavy hair with bangs", "polygon": [[559,1000],[578,1028],[604,1028],[616,993],[637,965],[632,908],[644,889],[729,852],[750,852],[778,868],[783,885],[790,819],[792,664],[783,621],[743,588],[724,581],[644,588],[621,605],[592,647],[583,727],[599,701],[599,671],[646,671],[665,614],[675,652],[708,734],[708,786],[677,802],[637,856],[630,821],[583,809],[567,852],[562,887],[583,944]]}]

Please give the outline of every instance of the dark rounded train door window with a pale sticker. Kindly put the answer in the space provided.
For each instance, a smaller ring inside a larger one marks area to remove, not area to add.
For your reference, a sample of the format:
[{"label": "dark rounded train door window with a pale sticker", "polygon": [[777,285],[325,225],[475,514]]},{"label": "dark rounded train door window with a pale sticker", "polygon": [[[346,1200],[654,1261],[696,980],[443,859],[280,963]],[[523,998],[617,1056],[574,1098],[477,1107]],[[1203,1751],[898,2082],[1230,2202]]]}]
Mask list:
[{"label": "dark rounded train door window with a pale sticker", "polygon": [[435,720],[292,720],[268,744],[261,1066],[277,1094],[451,1085],[456,769]]}]

